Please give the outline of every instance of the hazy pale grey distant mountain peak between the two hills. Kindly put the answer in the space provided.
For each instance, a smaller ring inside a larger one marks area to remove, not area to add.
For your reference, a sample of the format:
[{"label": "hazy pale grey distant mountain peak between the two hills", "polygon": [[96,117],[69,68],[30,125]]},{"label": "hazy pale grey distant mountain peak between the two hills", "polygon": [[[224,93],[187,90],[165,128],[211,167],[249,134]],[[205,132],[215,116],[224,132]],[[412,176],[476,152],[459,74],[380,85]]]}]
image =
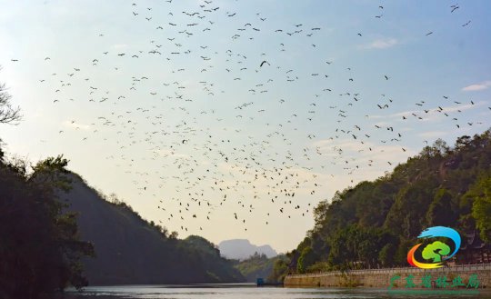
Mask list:
[{"label": "hazy pale grey distant mountain peak between the two hills", "polygon": [[266,254],[268,258],[277,255],[275,249],[270,245],[265,244],[258,246],[251,244],[247,239],[225,240],[218,244],[218,248],[220,249],[220,254],[222,256],[238,260],[244,260],[255,253]]}]

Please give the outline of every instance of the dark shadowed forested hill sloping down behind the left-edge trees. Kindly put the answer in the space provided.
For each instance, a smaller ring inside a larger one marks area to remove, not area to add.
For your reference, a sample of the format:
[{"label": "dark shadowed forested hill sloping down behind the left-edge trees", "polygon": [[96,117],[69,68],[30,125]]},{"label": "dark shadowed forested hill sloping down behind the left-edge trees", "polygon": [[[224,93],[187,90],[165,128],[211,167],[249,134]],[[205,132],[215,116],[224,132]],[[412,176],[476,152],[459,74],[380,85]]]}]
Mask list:
[{"label": "dark shadowed forested hill sloping down behind the left-edge trees", "polygon": [[214,244],[199,236],[177,239],[164,227],[147,223],[115,197],[89,187],[70,174],[72,189],[60,198],[78,213],[81,239],[95,245],[85,258],[89,284],[191,284],[245,281],[232,261],[220,257]]}]

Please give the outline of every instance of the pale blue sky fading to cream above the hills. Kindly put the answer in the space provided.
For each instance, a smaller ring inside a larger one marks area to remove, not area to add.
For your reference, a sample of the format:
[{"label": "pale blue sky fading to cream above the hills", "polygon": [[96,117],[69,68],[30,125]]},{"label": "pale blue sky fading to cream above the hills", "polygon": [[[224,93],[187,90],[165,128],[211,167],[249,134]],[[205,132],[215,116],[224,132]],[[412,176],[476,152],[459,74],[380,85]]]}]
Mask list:
[{"label": "pale blue sky fading to cream above the hills", "polygon": [[11,157],[286,253],[320,201],[491,126],[489,1],[0,0]]}]

